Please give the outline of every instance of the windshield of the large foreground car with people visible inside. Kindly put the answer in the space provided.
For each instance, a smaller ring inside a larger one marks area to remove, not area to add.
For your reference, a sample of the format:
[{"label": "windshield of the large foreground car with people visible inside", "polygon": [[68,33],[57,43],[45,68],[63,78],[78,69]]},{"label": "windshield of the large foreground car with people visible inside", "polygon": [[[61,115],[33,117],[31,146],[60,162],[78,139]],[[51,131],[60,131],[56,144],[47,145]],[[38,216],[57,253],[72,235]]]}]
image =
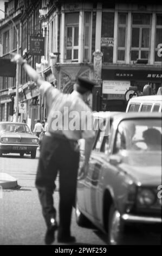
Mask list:
[{"label": "windshield of the large foreground car with people visible inside", "polygon": [[124,120],[118,126],[115,151],[158,150],[161,151],[161,120]]}]

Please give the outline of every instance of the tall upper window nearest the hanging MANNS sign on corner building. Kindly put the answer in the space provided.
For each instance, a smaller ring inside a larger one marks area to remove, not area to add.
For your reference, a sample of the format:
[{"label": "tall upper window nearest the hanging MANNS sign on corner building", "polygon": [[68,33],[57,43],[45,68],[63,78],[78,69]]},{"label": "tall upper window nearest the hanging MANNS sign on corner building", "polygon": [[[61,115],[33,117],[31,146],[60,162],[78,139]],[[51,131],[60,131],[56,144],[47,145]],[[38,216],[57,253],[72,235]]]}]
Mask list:
[{"label": "tall upper window nearest the hanging MANNS sign on corner building", "polygon": [[79,13],[65,15],[66,23],[66,60],[78,61],[79,50]]}]

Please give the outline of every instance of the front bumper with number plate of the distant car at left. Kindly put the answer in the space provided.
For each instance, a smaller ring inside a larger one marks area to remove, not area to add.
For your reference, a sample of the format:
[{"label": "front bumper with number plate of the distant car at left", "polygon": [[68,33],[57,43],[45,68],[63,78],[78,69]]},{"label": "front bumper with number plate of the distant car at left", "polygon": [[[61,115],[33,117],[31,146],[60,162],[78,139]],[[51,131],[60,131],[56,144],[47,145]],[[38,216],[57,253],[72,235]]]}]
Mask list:
[{"label": "front bumper with number plate of the distant car at left", "polygon": [[2,153],[28,152],[36,150],[38,144],[0,144]]}]

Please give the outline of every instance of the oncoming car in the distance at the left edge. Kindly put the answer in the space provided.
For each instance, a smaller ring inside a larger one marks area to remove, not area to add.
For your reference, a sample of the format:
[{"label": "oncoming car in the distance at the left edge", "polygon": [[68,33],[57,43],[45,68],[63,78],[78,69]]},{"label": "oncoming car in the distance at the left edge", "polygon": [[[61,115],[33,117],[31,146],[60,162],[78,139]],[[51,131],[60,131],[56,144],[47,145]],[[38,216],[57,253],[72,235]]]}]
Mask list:
[{"label": "oncoming car in the distance at the left edge", "polygon": [[29,126],[24,123],[0,122],[0,156],[9,153],[18,153],[36,157],[38,138],[33,135]]}]

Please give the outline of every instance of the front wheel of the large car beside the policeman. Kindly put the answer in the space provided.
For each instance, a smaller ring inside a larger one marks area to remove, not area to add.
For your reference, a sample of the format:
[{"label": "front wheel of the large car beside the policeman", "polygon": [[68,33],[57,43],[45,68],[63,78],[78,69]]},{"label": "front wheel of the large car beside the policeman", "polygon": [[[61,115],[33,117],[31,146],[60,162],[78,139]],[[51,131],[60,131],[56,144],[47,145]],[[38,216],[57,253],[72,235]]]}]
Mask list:
[{"label": "front wheel of the large car beside the policeman", "polygon": [[111,205],[108,217],[108,245],[121,245],[124,240],[124,223],[121,221],[120,213]]}]

